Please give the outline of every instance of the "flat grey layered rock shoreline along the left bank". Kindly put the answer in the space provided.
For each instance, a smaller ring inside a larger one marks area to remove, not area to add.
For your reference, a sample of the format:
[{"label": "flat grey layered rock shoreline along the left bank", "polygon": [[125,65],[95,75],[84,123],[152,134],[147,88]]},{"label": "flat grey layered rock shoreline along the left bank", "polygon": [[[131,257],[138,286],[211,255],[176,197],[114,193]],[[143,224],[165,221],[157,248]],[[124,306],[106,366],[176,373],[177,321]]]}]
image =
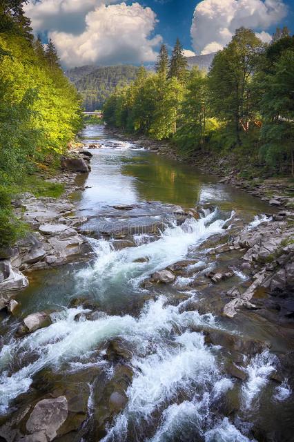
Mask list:
[{"label": "flat grey layered rock shoreline along the left bank", "polygon": [[91,156],[81,148],[61,157],[60,173],[46,180],[63,184],[61,198],[37,198],[27,192],[12,200],[14,214],[28,224],[30,233],[14,247],[1,251],[0,310],[11,310],[14,294],[28,287],[32,271],[64,265],[89,252],[84,236],[79,233],[87,218],[74,215],[75,204],[69,196],[84,190],[83,183],[77,184],[77,176],[88,174]]}]

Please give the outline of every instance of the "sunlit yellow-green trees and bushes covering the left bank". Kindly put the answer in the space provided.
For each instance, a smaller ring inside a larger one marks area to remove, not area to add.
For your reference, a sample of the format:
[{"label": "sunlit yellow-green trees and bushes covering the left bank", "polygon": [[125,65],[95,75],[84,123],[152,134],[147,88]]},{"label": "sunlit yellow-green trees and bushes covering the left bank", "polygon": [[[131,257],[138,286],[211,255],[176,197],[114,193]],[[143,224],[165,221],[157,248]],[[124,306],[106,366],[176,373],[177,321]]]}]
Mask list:
[{"label": "sunlit yellow-green trees and bushes covering the left bank", "polygon": [[81,98],[53,42],[45,48],[33,37],[23,3],[0,3],[0,247],[23,230],[12,215],[12,195],[58,191],[36,173],[49,173],[82,127]]}]

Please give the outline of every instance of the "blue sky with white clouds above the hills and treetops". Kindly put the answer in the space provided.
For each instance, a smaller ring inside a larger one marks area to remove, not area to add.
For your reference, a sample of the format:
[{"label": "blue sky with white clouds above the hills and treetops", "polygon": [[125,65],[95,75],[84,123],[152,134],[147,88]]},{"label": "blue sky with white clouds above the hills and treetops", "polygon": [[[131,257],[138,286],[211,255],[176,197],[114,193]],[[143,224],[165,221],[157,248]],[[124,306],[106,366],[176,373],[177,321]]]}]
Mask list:
[{"label": "blue sky with white clouds above the hills and treetops", "polygon": [[51,37],[66,68],[153,64],[179,37],[187,56],[226,46],[241,26],[264,42],[277,26],[294,31],[294,0],[31,0],[35,34]]}]

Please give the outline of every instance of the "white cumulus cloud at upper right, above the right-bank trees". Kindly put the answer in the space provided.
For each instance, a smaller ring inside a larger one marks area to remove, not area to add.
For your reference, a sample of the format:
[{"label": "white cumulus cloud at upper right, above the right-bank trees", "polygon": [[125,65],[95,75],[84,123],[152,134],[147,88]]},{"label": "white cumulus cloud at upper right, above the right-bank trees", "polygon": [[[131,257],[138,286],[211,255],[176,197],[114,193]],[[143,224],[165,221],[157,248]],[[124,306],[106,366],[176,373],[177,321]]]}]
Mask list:
[{"label": "white cumulus cloud at upper right, above the right-bank trees", "polygon": [[195,8],[190,30],[193,48],[202,54],[222,49],[241,26],[258,30],[262,41],[271,41],[265,30],[286,12],[283,0],[203,0]]}]

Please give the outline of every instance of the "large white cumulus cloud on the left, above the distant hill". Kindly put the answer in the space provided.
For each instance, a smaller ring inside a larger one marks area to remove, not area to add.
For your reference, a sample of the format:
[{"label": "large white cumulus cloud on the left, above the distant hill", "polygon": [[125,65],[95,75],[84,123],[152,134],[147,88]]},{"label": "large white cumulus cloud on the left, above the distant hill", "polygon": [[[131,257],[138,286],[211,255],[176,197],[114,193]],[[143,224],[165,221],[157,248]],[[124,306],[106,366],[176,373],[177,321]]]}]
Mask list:
[{"label": "large white cumulus cloud on the left, above the distant hill", "polygon": [[[35,9],[36,8],[36,9]],[[41,0],[27,6],[35,32],[48,32],[67,67],[154,61],[157,18],[139,3],[116,0]],[[67,23],[65,23],[67,22]],[[77,28],[75,28],[77,24]]]}]

